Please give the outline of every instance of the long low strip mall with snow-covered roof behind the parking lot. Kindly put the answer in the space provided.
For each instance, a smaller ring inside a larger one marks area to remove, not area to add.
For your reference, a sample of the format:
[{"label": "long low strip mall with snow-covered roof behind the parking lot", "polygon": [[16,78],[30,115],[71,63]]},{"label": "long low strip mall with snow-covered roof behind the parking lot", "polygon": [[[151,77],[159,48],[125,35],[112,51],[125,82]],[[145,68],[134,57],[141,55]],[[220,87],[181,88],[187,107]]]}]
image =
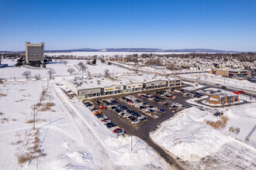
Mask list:
[{"label": "long low strip mall with snow-covered roof behind the parking lot", "polygon": [[[72,80],[63,80],[63,83],[67,88],[72,90],[78,96],[78,99],[104,97],[113,94],[160,89],[164,87],[175,88],[184,86],[182,85],[181,80],[174,78],[171,78],[171,80],[152,80],[144,83],[130,81],[130,83],[124,84],[124,82],[120,80],[114,80],[113,82],[110,82],[109,80],[106,80],[104,77],[101,78],[100,84],[99,80],[91,81],[93,86],[92,84],[87,85],[88,80],[85,80],[83,78],[76,78]],[[105,86],[105,84],[111,85]]]}]

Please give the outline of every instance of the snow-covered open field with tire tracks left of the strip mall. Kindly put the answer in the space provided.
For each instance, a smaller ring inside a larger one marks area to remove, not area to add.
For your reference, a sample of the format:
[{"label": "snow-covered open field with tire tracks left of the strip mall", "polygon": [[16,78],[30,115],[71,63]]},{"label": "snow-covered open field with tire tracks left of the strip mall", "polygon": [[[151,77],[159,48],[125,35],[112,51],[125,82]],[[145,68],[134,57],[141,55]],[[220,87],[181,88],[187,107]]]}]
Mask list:
[{"label": "snow-covered open field with tire tracks left of the strip mall", "polygon": [[[20,69],[30,70],[8,67],[1,73]],[[140,138],[133,137],[131,151],[129,135],[116,138],[80,101],[69,100],[56,85],[59,81],[51,80],[48,87],[45,79],[0,84],[2,169],[170,169]]]}]

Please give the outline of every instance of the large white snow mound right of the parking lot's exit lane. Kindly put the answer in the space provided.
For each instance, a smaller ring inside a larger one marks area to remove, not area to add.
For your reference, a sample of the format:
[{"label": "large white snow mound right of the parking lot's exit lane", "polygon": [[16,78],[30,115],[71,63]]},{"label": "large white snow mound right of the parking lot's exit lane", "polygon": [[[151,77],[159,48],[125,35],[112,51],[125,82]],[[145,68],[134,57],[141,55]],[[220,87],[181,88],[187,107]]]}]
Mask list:
[{"label": "large white snow mound right of the parking lot's exit lane", "polygon": [[191,107],[164,121],[150,136],[179,158],[190,162],[198,161],[215,153],[229,141],[220,131],[204,124],[209,119],[216,121],[216,117],[208,111]]}]

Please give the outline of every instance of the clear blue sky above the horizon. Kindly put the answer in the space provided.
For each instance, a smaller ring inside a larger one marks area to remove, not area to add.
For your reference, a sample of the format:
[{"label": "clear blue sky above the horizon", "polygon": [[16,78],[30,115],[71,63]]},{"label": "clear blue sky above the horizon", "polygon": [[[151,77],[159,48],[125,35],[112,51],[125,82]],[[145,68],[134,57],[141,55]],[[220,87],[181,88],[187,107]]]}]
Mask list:
[{"label": "clear blue sky above the horizon", "polygon": [[0,0],[0,50],[256,51],[255,0]]}]

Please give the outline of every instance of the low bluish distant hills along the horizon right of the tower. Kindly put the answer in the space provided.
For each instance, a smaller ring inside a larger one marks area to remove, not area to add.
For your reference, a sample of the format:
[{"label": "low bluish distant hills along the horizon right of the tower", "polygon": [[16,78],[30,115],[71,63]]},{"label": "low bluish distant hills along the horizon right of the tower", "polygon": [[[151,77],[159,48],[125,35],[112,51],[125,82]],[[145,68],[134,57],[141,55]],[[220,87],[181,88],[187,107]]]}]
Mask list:
[{"label": "low bluish distant hills along the horizon right of the tower", "polygon": [[237,51],[225,51],[220,49],[150,49],[150,48],[109,48],[109,49],[67,49],[67,50],[45,50],[46,53],[57,52],[173,52],[173,53],[239,53]]}]

